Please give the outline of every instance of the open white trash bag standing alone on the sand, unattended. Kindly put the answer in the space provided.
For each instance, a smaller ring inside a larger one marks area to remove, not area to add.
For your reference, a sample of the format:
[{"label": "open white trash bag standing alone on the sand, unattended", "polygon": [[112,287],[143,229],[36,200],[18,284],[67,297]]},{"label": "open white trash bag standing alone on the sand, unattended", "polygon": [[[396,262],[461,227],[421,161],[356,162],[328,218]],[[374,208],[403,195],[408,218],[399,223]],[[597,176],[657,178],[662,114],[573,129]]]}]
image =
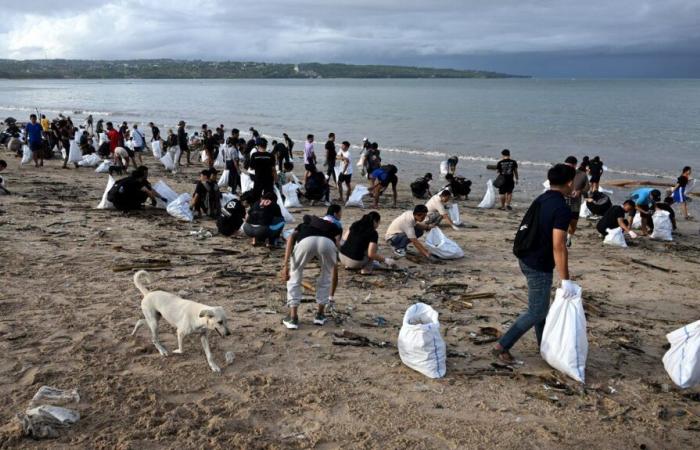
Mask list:
[{"label": "open white trash bag standing alone on the sand, unattended", "polygon": [[416,303],[406,310],[398,347],[401,361],[411,369],[430,378],[445,376],[445,341],[440,335],[438,313],[430,306]]}]

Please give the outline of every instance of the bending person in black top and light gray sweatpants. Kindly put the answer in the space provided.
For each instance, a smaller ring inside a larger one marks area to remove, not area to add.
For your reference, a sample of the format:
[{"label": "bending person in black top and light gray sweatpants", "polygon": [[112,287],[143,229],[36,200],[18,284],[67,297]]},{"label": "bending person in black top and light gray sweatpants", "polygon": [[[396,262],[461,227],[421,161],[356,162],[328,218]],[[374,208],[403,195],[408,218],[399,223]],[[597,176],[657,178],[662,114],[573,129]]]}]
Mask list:
[{"label": "bending person in black top and light gray sweatpants", "polygon": [[326,322],[325,310],[334,290],[338,242],[343,233],[340,218],[339,205],[329,206],[328,214],[324,218],[304,216],[304,221],[287,240],[281,278],[287,283],[289,315],[282,323],[290,330],[299,328],[297,310],[301,303],[304,267],[313,259],[317,259],[320,266],[320,274],[316,281],[318,311],[314,317],[314,324],[323,325]]}]

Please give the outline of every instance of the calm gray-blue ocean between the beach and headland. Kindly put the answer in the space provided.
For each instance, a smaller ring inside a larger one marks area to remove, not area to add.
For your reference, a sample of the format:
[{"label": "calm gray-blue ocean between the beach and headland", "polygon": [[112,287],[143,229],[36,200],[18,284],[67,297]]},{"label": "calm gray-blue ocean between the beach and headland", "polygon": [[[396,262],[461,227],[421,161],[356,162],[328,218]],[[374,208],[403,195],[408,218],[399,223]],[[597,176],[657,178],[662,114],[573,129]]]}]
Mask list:
[{"label": "calm gray-blue ocean between the beach and headland", "polygon": [[604,180],[671,182],[700,147],[700,80],[0,80],[0,114],[26,120],[36,109],[164,132],[181,119],[193,131],[254,126],[287,132],[297,151],[308,133],[321,149],[331,131],[353,145],[368,137],[408,178],[457,155],[480,182],[508,148],[533,191],[568,155],[599,155]]}]

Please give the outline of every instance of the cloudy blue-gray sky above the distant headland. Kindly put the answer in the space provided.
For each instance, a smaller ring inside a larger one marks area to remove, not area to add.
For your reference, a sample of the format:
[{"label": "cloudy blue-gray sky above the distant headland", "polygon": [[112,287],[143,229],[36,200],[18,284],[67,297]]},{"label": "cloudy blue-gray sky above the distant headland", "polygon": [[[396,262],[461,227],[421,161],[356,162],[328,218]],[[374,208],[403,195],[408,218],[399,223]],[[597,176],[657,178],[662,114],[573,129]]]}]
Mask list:
[{"label": "cloudy blue-gray sky above the distant headland", "polygon": [[700,77],[700,0],[0,0],[0,6],[0,58]]}]

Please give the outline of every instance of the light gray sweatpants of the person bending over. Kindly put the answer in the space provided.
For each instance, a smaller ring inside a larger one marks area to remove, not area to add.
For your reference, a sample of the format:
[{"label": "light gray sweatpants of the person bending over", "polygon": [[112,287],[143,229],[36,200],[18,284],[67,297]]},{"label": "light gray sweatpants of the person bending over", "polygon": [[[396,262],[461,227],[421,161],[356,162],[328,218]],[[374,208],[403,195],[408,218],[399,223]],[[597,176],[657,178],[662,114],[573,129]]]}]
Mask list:
[{"label": "light gray sweatpants of the person bending over", "polygon": [[325,305],[331,293],[333,268],[338,261],[338,249],[335,242],[326,237],[310,236],[297,242],[291,256],[289,281],[287,281],[287,306],[299,306],[301,303],[301,282],[304,279],[304,267],[312,259],[318,259],[321,274],[316,280],[316,303]]}]

